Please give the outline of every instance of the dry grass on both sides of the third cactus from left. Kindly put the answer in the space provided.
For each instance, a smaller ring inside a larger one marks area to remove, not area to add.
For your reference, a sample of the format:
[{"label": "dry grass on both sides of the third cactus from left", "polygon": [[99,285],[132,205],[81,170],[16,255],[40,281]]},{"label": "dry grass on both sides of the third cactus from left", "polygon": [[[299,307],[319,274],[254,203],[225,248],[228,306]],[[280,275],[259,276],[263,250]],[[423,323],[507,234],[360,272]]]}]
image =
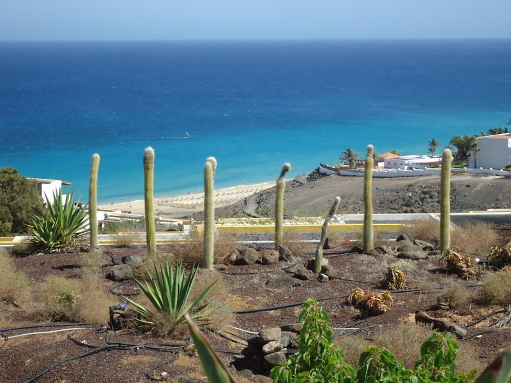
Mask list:
[{"label": "dry grass on both sides of the third cactus from left", "polygon": [[[224,264],[228,262],[238,244],[235,237],[229,233],[218,233],[215,237],[214,263]],[[186,243],[171,243],[166,247],[166,253],[172,254],[174,261],[181,260],[183,265],[202,265],[204,253],[204,235],[201,230],[193,227],[190,230],[190,240]]]}]

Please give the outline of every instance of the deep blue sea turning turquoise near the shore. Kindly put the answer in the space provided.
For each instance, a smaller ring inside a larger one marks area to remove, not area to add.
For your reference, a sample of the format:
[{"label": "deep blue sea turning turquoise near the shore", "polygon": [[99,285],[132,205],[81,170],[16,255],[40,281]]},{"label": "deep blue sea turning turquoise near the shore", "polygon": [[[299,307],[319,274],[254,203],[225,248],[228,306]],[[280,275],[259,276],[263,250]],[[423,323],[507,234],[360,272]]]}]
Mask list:
[{"label": "deep blue sea turning turquoise near the shore", "polygon": [[[364,153],[505,127],[511,40],[0,42],[0,167],[102,203],[291,176]],[[190,138],[184,138],[189,132]]]}]

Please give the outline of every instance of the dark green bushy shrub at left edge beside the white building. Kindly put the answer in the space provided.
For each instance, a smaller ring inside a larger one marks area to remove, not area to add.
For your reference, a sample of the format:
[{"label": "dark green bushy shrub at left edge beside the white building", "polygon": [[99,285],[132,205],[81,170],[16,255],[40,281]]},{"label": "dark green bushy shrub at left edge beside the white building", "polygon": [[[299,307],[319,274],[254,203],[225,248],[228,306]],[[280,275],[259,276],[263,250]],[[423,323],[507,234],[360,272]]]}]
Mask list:
[{"label": "dark green bushy shrub at left edge beside the white building", "polygon": [[0,235],[25,233],[33,206],[41,204],[36,181],[10,166],[0,169]]}]

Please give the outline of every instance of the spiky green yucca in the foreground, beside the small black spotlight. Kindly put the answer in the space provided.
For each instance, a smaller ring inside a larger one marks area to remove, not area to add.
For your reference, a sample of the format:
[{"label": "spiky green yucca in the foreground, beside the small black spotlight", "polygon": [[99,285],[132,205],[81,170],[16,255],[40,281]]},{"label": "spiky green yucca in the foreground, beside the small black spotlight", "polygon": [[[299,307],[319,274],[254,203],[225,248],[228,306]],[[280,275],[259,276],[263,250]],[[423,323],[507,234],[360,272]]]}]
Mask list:
[{"label": "spiky green yucca in the foreground, beside the small black spotlight", "polygon": [[[187,277],[182,262],[177,263],[175,271],[172,265],[167,262],[165,266],[161,266],[159,269],[154,265],[156,279],[153,278],[147,269],[147,282],[145,284],[136,278],[134,279],[156,311],[164,314],[169,322],[177,325],[183,324],[185,322],[184,314],[189,314],[195,321],[205,324],[203,323],[203,317],[211,314],[212,311],[201,313],[207,304],[199,304],[204,296],[213,288],[216,281],[207,286],[197,299],[189,303],[197,269],[198,267],[194,265]],[[144,318],[140,319],[141,322],[154,324],[154,322],[149,320],[151,312],[147,308],[129,298],[126,298],[126,300],[133,304],[135,306],[134,310]]]}]

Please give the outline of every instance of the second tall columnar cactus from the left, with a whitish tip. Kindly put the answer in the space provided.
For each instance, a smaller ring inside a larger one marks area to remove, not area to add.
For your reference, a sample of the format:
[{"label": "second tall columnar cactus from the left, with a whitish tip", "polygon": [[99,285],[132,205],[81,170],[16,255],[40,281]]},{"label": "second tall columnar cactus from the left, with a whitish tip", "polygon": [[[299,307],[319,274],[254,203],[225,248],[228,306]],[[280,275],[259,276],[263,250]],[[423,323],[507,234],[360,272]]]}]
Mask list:
[{"label": "second tall columnar cactus from the left, with a whitish tip", "polygon": [[144,151],[144,207],[146,209],[146,243],[151,257],[156,255],[156,225],[154,223],[154,149]]}]

